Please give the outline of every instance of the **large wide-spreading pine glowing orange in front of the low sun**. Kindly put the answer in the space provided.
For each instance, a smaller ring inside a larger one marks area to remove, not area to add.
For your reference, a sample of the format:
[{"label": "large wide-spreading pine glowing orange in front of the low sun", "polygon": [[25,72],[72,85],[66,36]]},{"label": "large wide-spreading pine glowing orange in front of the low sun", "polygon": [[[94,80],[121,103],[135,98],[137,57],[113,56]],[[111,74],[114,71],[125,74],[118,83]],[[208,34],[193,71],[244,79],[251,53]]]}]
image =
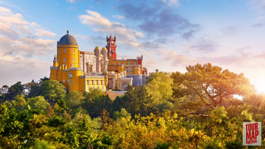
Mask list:
[{"label": "large wide-spreading pine glowing orange in front of the low sun", "polygon": [[211,63],[186,67],[186,73],[172,73],[174,96],[197,95],[207,106],[214,109],[229,95],[242,96],[253,91],[249,80],[242,73],[236,73]]}]

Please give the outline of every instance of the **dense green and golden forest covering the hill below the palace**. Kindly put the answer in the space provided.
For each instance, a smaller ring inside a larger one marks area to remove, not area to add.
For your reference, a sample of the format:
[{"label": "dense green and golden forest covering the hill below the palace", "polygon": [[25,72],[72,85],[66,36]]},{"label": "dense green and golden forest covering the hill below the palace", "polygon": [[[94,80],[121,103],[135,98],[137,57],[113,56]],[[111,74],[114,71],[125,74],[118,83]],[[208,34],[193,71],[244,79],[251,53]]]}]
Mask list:
[{"label": "dense green and golden forest covering the hill below the palace", "polygon": [[[243,74],[208,64],[151,73],[111,100],[98,89],[66,93],[61,82],[0,89],[0,148],[251,148],[242,122],[262,122],[265,96]],[[252,148],[265,148],[253,146]]]}]

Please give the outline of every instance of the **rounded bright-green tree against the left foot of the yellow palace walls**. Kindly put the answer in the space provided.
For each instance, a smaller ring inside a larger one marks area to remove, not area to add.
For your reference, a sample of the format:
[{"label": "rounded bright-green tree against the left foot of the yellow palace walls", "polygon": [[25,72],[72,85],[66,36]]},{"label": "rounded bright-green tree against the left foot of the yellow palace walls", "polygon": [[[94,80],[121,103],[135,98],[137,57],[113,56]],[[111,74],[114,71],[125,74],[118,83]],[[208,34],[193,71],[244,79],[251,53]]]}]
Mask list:
[{"label": "rounded bright-green tree against the left foot of the yellow palace walls", "polygon": [[66,91],[63,84],[56,80],[47,80],[41,84],[41,95],[43,95],[51,104],[58,99],[63,99]]}]

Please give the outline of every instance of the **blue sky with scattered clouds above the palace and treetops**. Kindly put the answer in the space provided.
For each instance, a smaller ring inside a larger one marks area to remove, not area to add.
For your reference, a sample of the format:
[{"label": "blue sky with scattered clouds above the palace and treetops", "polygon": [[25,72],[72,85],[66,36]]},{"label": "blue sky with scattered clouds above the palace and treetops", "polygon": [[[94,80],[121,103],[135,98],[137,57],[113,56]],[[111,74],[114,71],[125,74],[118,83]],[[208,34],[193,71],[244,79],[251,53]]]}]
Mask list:
[{"label": "blue sky with scattered clouds above the palace and treetops", "polygon": [[49,77],[67,29],[80,51],[115,34],[118,59],[149,72],[211,63],[265,92],[265,0],[0,0],[0,86]]}]

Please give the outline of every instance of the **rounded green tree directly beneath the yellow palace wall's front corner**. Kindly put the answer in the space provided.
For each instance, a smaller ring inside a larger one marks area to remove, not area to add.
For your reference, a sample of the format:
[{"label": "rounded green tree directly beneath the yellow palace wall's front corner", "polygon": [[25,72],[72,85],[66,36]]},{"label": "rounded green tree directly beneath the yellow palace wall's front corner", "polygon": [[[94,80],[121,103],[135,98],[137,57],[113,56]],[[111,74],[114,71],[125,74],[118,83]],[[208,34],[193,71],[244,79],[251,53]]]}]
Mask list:
[{"label": "rounded green tree directly beneath the yellow palace wall's front corner", "polygon": [[66,106],[69,108],[78,108],[85,97],[79,91],[70,91],[65,95]]}]

